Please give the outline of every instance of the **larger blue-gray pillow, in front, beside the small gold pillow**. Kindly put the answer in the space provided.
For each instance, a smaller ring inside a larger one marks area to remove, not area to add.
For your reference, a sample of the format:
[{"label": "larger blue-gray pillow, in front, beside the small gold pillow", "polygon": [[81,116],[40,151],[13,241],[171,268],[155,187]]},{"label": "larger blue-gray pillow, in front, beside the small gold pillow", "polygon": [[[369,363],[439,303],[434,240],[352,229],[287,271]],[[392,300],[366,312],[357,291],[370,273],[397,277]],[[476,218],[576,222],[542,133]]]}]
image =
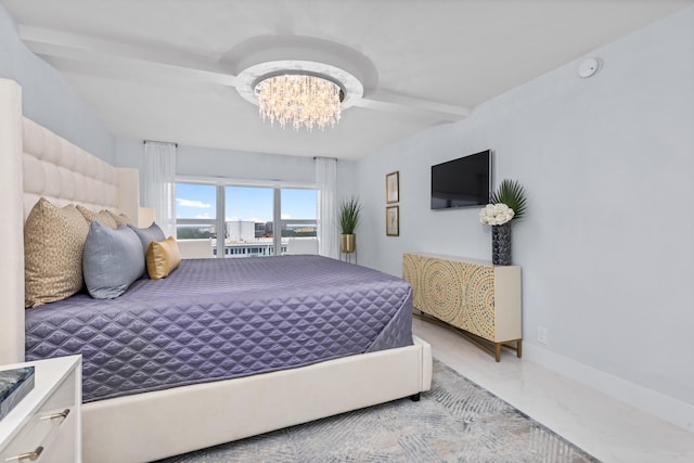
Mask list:
[{"label": "larger blue-gray pillow, in front, beside the small gold pillow", "polygon": [[92,220],[85,242],[82,270],[91,297],[118,297],[144,272],[142,243],[128,227],[113,230]]}]

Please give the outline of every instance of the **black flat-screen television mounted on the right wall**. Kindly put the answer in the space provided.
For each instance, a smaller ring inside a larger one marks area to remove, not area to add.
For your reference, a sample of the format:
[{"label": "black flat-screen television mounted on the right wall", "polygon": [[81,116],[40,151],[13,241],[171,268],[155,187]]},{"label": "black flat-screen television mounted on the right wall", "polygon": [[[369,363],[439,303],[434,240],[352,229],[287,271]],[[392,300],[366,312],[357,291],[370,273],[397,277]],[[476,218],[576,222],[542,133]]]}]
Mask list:
[{"label": "black flat-screen television mounted on the right wall", "polygon": [[486,205],[490,191],[489,150],[432,166],[432,209]]}]

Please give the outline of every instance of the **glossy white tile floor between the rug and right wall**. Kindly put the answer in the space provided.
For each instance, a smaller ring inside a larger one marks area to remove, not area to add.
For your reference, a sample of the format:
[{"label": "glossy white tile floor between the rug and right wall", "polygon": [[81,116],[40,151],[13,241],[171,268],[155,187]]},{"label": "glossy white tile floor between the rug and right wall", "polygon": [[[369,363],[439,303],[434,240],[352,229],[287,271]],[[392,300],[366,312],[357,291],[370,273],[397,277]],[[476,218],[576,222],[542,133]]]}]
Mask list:
[{"label": "glossy white tile floor between the rug and right wall", "polygon": [[434,357],[603,462],[694,462],[689,433],[503,349],[501,362],[452,330],[414,319]]}]

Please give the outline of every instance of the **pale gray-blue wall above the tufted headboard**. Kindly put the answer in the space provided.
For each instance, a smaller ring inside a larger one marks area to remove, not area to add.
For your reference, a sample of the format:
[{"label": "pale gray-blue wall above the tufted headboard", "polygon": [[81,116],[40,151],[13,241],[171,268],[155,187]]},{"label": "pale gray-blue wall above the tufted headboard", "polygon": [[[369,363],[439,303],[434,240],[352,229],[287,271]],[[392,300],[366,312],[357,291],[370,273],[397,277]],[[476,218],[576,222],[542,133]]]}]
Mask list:
[{"label": "pale gray-blue wall above the tufted headboard", "polygon": [[107,163],[114,139],[65,77],[31,53],[20,40],[16,24],[0,5],[0,77],[22,86],[24,115]]}]

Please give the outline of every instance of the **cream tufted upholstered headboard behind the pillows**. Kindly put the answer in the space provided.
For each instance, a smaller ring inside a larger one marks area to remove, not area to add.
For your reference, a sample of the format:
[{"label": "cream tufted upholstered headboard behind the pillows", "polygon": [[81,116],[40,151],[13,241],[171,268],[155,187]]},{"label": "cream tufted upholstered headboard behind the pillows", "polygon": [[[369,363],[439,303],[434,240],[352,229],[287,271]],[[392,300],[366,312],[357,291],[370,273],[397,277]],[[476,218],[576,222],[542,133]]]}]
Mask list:
[{"label": "cream tufted upholstered headboard behind the pillows", "polygon": [[41,197],[138,220],[137,169],[116,168],[22,114],[22,89],[0,79],[0,364],[24,361],[24,220]]}]

